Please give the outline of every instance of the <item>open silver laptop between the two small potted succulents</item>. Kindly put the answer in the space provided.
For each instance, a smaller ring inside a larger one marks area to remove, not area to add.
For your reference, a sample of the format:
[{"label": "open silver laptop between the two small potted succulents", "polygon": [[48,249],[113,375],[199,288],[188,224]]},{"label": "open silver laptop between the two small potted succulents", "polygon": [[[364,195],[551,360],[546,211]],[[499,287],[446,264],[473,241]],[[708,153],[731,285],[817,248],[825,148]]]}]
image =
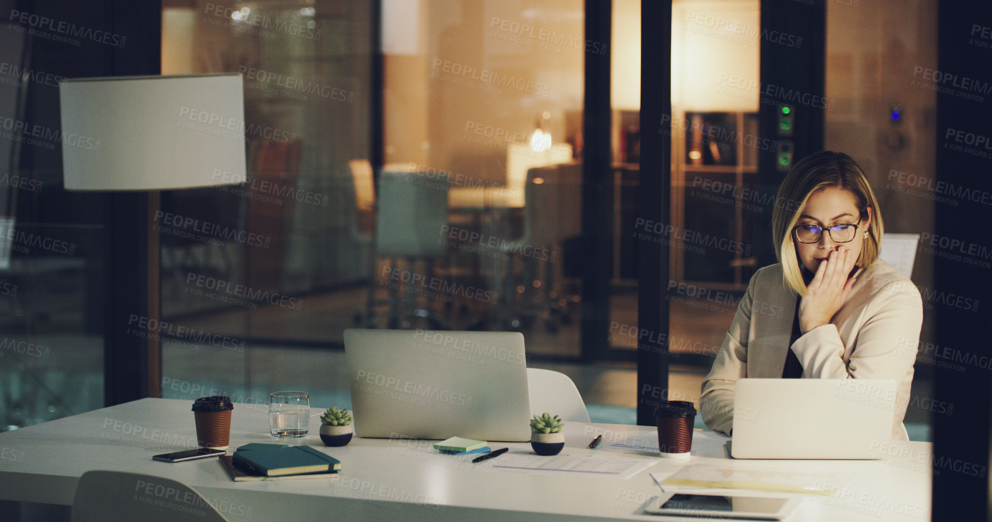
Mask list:
[{"label": "open silver laptop between the two small potted succulents", "polygon": [[355,435],[528,441],[519,332],[344,331]]}]

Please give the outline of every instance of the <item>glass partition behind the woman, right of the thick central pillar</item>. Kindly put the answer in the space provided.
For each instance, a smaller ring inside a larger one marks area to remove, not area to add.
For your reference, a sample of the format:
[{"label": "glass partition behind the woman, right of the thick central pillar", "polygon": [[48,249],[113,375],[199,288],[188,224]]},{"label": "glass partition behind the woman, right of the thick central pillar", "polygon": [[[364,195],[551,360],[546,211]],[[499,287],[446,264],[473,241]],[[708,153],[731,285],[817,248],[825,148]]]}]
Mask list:
[{"label": "glass partition behind the woman, right of the thick central pillar", "polygon": [[[815,15],[825,19],[822,85],[801,92],[787,89],[802,85],[804,72],[784,63],[790,53],[820,49],[820,33],[801,20],[797,5],[778,9],[791,15],[772,11],[766,17],[759,1],[673,2],[672,115],[662,125],[672,138],[671,223],[638,231],[671,240],[670,398],[698,403],[698,382],[712,361],[699,356],[715,355],[751,275],[775,262],[773,203],[795,161],[819,149],[844,152],[865,169],[887,235],[933,230],[934,201],[941,198],[911,184],[926,185],[934,171],[938,94],[924,80],[937,69],[936,3],[919,3],[895,17],[886,3],[827,2],[825,14]],[[765,24],[769,18],[776,22]],[[869,33],[879,38],[852,37]],[[766,55],[785,59],[766,61]],[[821,118],[817,128],[797,125],[813,114]],[[819,136],[819,145],[799,153]],[[768,155],[774,160],[759,161]],[[912,269],[925,319],[905,423],[911,439],[922,441],[930,440],[931,423],[946,411],[933,400],[933,368],[942,363],[932,347],[938,345],[934,317],[950,303],[933,289],[932,252],[921,247]],[[680,379],[692,381],[683,386],[687,395],[677,395]]]}]

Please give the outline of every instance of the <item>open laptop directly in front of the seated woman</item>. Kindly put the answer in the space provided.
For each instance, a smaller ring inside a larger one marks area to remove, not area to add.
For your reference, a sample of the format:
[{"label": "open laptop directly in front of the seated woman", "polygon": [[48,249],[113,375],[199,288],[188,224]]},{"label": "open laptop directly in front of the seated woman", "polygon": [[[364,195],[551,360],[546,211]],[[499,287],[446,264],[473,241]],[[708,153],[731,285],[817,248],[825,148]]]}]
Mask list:
[{"label": "open laptop directly in front of the seated woman", "polygon": [[880,459],[892,440],[896,381],[742,378],[734,392],[734,459]]}]

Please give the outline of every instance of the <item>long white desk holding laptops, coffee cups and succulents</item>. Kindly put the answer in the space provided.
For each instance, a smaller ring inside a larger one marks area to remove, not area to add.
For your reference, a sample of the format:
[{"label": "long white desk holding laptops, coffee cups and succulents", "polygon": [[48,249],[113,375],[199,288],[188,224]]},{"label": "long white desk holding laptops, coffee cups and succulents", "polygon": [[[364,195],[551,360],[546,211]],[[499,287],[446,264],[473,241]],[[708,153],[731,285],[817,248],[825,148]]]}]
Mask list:
[{"label": "long white desk holding laptops, coffee cups and succulents", "polygon": [[[194,445],[190,402],[142,399],[119,406],[0,434],[0,499],[71,504],[86,470],[129,470],[180,480],[217,501],[229,520],[671,520],[636,515],[645,499],[659,494],[651,472],[677,470],[686,463],[643,455],[652,466],[628,479],[560,473],[530,474],[475,470],[476,465],[434,454],[431,442],[354,439],[326,448],[341,461],[334,479],[234,482],[215,459],[181,464],[151,456]],[[299,443],[323,449],[315,435],[319,412],[311,409],[310,436]],[[643,433],[644,426],[565,425],[562,454],[611,454],[586,448],[597,433],[604,440]],[[840,498],[806,495],[790,520],[929,520],[930,468],[913,456],[930,455],[929,443],[902,443],[909,455],[886,462],[729,461],[722,436],[697,431],[693,450],[699,464],[745,468],[856,473]],[[265,405],[235,405],[231,448],[274,442]],[[493,447],[502,447],[494,443]],[[530,450],[528,443],[506,444]],[[895,452],[893,452],[895,453]],[[914,467],[916,467],[914,469]],[[944,472],[951,472],[946,470]],[[926,509],[907,515],[907,506]],[[292,513],[292,516],[290,515]],[[526,517],[526,518],[525,518]],[[693,520],[686,518],[684,520]],[[694,519],[698,520],[698,519]]]}]

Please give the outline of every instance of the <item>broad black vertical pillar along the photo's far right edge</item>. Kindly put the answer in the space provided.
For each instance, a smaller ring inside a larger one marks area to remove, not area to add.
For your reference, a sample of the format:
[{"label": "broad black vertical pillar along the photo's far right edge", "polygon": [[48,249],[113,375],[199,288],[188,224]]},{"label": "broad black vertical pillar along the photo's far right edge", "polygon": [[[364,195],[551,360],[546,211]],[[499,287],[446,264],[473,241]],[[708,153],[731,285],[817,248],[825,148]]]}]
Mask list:
[{"label": "broad black vertical pillar along the photo's far right edge", "polygon": [[954,409],[953,415],[933,415],[931,515],[933,520],[988,520],[992,379],[982,362],[992,357],[983,297],[992,290],[992,97],[972,95],[987,91],[992,81],[992,4],[940,2],[937,9],[943,90],[936,94],[936,179],[963,197],[955,198],[956,205],[935,205],[933,234],[923,235],[919,255],[935,256],[935,291],[980,298],[985,311],[933,310],[940,357],[960,359],[965,369],[933,367],[930,398]]}]

